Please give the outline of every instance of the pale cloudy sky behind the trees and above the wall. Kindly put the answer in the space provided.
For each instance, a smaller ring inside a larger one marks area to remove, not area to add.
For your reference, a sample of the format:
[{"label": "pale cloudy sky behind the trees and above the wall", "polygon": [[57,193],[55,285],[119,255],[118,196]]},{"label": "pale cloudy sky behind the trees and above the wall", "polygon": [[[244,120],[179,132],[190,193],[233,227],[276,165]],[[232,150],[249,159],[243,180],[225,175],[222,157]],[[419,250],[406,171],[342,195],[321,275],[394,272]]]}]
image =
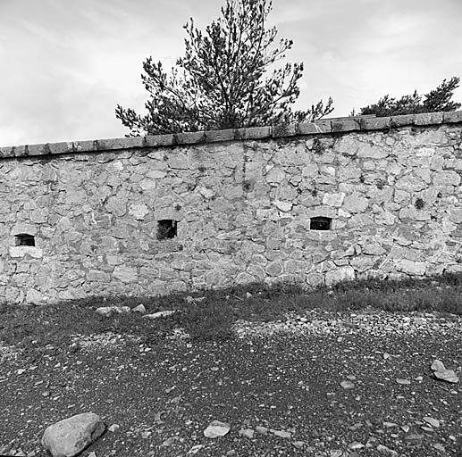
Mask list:
[{"label": "pale cloudy sky behind the trees and above the wall", "polygon": [[[0,0],[0,145],[123,137],[117,104],[144,112],[148,56],[171,68],[182,26],[225,0]],[[296,107],[331,117],[462,76],[462,0],[273,0],[271,24],[304,62]],[[454,100],[462,102],[462,88]]]}]

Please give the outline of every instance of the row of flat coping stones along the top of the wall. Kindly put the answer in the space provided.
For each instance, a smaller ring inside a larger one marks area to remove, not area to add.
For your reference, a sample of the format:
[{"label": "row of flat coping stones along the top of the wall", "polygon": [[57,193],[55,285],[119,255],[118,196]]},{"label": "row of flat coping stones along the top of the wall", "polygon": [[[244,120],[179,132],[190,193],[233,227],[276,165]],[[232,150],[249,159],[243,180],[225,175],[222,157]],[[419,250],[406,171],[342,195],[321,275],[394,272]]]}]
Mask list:
[{"label": "row of flat coping stones along the top of the wall", "polygon": [[201,132],[174,133],[150,137],[124,137],[46,143],[41,145],[0,146],[0,160],[13,157],[28,157],[51,154],[84,154],[141,149],[172,145],[196,145],[301,135],[319,135],[337,132],[389,130],[407,126],[431,126],[446,123],[462,123],[462,111],[424,112],[384,118],[351,117],[315,120],[286,127],[250,127],[244,129],[210,130]]}]

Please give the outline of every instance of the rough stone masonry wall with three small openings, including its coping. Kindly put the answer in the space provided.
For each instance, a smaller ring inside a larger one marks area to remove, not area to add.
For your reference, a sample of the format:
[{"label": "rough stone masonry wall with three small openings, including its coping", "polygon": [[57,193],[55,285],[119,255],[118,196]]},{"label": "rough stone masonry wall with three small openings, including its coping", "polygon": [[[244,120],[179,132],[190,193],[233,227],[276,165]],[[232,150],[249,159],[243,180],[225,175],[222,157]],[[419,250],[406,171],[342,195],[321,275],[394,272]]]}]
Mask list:
[{"label": "rough stone masonry wall with three small openings, including its coping", "polygon": [[449,112],[0,148],[0,297],[462,270],[461,142]]}]

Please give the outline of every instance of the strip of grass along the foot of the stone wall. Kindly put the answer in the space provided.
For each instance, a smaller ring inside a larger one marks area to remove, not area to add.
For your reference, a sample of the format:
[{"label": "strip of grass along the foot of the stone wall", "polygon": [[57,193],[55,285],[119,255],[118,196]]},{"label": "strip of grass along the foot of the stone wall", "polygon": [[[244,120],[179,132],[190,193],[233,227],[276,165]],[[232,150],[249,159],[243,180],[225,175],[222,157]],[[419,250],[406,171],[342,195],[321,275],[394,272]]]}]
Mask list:
[{"label": "strip of grass along the foot of the stone wall", "polygon": [[[362,279],[318,288],[312,292],[293,284],[266,287],[253,284],[221,290],[163,297],[89,297],[70,302],[25,306],[0,304],[0,341],[33,345],[63,345],[71,335],[105,332],[134,334],[153,343],[174,328],[184,328],[193,339],[217,341],[231,337],[238,319],[281,320],[286,312],[325,309],[345,312],[374,308],[388,312],[432,311],[462,314],[462,274],[404,280]],[[158,320],[138,313],[99,316],[99,306],[134,308],[143,303],[147,312],[180,310]]]}]

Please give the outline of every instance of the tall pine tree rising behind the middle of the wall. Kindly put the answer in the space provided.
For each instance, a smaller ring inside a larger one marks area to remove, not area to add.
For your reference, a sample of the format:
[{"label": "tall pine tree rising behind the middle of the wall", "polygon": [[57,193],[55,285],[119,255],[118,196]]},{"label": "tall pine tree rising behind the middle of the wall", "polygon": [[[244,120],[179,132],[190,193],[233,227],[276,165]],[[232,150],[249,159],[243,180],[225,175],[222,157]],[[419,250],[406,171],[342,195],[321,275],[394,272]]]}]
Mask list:
[{"label": "tall pine tree rising behind the middle of the wall", "polygon": [[303,64],[281,64],[292,41],[275,45],[277,29],[266,29],[271,8],[271,0],[226,0],[205,31],[192,19],[184,26],[185,54],[169,74],[147,58],[141,75],[147,114],[119,104],[115,110],[130,136],[281,125],[332,112],[332,98],[292,110]]}]

